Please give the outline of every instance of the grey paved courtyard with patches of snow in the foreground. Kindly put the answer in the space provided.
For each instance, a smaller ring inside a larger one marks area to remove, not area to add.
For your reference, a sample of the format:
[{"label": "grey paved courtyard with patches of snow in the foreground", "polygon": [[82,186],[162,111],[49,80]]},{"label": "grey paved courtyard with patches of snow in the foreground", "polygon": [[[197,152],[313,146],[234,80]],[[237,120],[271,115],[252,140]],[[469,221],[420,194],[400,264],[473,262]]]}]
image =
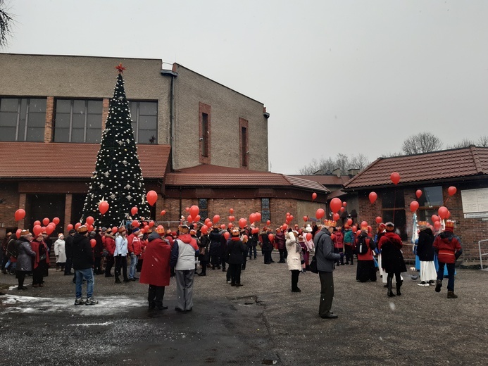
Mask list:
[{"label": "grey paved courtyard with patches of snow in the foreground", "polygon": [[[273,253],[277,261],[277,253]],[[334,313],[318,317],[317,274],[300,274],[292,293],[286,264],[248,261],[244,286],[225,274],[195,277],[194,310],[149,313],[147,286],[96,276],[98,305],[73,305],[71,277],[49,271],[46,286],[18,291],[0,274],[3,365],[487,365],[488,272],[458,269],[456,294],[417,286],[407,273],[402,296],[381,279],[357,283],[356,264],[334,271]]]}]

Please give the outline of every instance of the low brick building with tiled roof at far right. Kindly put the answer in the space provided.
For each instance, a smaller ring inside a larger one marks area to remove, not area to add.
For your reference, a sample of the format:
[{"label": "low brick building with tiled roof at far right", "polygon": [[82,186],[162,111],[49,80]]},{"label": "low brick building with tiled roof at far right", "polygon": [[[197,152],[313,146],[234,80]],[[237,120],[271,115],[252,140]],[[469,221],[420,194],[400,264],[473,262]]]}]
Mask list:
[{"label": "low brick building with tiled roof at far right", "polygon": [[[393,184],[392,172],[400,182]],[[457,192],[449,196],[448,188]],[[423,194],[417,198],[415,192]],[[478,241],[488,239],[488,148],[470,146],[463,149],[436,151],[394,158],[379,158],[344,184],[344,191],[358,195],[358,222],[368,221],[375,227],[375,217],[393,221],[400,229],[403,242],[411,243],[413,213],[410,203],[417,200],[418,220],[432,224],[433,214],[446,206],[455,233],[463,243],[463,260],[480,258]],[[372,204],[370,192],[377,194]],[[411,256],[411,251],[405,251]]]}]

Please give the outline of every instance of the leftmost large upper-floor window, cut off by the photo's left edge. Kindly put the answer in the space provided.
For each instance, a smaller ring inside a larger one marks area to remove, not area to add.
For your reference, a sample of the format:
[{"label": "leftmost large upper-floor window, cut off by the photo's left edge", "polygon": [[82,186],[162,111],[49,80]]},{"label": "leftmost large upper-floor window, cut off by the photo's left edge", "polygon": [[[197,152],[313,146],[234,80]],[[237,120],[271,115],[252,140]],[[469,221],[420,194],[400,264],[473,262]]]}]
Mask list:
[{"label": "leftmost large upper-floor window, cut off by the photo's left edge", "polygon": [[46,99],[0,98],[1,141],[44,141]]}]

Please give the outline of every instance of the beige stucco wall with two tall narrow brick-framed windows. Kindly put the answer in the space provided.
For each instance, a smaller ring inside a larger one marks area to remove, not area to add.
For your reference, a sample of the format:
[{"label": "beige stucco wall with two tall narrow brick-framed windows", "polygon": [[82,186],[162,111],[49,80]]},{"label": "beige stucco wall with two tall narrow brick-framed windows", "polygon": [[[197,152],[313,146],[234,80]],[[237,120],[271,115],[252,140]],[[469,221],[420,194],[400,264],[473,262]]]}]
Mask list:
[{"label": "beige stucco wall with two tall narrow brick-framed windows", "polygon": [[[263,103],[175,65],[175,168],[199,165],[199,102],[211,106],[211,164],[239,168],[239,118],[249,122],[249,169],[268,171]],[[191,151],[191,153],[186,153]]]}]

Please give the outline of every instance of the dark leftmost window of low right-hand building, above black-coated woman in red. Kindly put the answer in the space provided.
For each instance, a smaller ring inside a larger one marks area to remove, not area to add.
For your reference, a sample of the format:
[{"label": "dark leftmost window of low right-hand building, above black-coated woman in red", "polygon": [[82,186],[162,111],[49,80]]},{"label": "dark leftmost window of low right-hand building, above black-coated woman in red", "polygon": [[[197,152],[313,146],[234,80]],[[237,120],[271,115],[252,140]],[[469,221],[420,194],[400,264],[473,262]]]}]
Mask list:
[{"label": "dark leftmost window of low right-hand building, above black-coated woman in red", "polygon": [[389,189],[381,193],[383,222],[393,222],[401,240],[407,240],[405,198],[403,189]]}]

